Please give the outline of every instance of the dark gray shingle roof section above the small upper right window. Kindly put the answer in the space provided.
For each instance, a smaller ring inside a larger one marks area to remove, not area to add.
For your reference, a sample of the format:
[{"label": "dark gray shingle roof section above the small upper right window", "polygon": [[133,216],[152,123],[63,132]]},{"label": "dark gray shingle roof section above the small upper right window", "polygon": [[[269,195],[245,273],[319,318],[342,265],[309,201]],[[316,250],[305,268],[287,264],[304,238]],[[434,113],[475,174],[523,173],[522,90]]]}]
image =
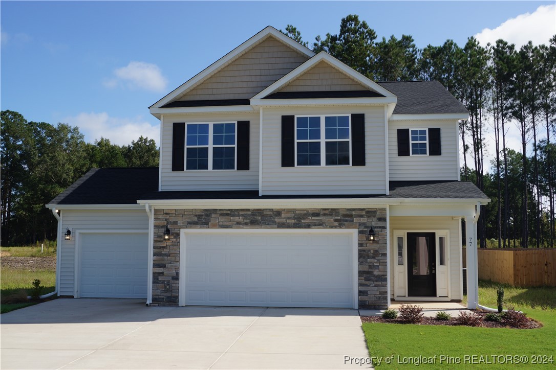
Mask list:
[{"label": "dark gray shingle roof section above the small upper right window", "polygon": [[398,97],[394,114],[469,113],[438,81],[378,82]]}]

